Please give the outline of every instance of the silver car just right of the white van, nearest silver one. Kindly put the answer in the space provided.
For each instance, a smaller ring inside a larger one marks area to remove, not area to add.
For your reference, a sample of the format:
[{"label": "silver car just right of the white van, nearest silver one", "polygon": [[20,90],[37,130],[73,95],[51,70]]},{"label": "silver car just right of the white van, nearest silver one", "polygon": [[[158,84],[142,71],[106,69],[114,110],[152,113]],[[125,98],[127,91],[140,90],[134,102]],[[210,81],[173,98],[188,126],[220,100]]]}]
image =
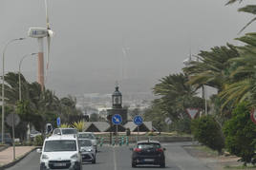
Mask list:
[{"label": "silver car just right of the white van, nearest silver one", "polygon": [[78,145],[80,148],[82,161],[91,161],[96,163],[96,149],[93,142],[89,139],[79,139]]}]

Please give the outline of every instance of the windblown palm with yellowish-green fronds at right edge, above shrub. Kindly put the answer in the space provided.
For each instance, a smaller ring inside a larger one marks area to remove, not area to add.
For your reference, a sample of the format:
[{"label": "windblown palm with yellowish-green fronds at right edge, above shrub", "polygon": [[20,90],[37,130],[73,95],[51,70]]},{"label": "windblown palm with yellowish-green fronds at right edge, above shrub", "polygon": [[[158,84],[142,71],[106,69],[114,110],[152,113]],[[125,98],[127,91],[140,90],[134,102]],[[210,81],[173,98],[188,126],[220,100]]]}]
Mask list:
[{"label": "windblown palm with yellowish-green fronds at right edge, above shrub", "polygon": [[241,57],[229,60],[233,67],[229,75],[230,82],[224,86],[224,91],[220,93],[223,100],[222,107],[226,104],[235,106],[245,100],[255,105],[256,101],[256,33],[247,33],[237,40],[246,45],[237,47]]}]

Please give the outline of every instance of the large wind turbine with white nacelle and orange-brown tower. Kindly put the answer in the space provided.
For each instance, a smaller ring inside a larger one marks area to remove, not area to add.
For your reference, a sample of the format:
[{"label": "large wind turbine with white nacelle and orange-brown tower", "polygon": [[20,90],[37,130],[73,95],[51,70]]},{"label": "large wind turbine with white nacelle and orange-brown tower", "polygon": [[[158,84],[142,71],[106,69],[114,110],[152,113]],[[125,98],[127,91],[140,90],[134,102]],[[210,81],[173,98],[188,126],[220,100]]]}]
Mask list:
[{"label": "large wind turbine with white nacelle and orange-brown tower", "polygon": [[45,0],[46,9],[46,28],[30,28],[29,36],[37,38],[38,41],[38,67],[37,67],[37,82],[41,85],[41,89],[44,89],[45,76],[44,76],[44,37],[47,37],[47,69],[49,67],[49,56],[51,47],[51,38],[53,37],[53,30],[50,28],[49,14],[47,0]]}]

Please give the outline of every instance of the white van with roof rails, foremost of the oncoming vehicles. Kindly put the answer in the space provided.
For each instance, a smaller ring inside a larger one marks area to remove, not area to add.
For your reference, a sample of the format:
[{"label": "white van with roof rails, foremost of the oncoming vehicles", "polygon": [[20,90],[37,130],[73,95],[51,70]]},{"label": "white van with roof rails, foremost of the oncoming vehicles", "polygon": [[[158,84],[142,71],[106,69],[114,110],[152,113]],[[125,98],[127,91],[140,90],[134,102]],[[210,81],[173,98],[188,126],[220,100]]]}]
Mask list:
[{"label": "white van with roof rails, foremost of the oncoming vehicles", "polygon": [[54,135],[45,139],[41,153],[40,170],[82,170],[82,158],[76,135]]}]

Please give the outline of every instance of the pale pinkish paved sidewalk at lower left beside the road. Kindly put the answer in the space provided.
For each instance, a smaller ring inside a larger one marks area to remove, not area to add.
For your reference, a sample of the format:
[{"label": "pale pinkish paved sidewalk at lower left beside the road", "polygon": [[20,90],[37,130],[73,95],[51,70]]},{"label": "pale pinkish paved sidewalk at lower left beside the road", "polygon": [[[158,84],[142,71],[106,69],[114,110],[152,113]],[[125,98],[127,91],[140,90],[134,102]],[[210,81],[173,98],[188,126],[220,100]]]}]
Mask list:
[{"label": "pale pinkish paved sidewalk at lower left beside the road", "polygon": [[[16,146],[15,147],[15,161],[21,159],[27,153],[31,152],[35,146]],[[0,152],[0,166],[9,164],[13,161],[13,147]]]}]

